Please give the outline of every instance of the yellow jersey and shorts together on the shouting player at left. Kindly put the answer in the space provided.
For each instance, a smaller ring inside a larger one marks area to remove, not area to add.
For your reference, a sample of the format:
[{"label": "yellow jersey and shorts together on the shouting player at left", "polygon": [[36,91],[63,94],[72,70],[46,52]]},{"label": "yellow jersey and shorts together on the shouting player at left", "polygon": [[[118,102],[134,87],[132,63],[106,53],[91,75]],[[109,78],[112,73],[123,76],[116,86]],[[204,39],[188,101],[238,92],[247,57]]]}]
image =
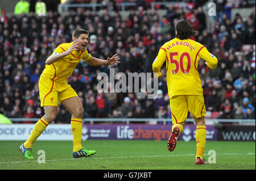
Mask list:
[{"label": "yellow jersey and shorts together on the shouting player at left", "polygon": [[[73,42],[60,44],[51,56],[68,50]],[[41,106],[57,106],[62,100],[77,96],[76,91],[67,83],[67,79],[75,70],[77,64],[88,61],[92,56],[85,49],[81,52],[73,51],[53,64],[46,65],[39,80]]]}]

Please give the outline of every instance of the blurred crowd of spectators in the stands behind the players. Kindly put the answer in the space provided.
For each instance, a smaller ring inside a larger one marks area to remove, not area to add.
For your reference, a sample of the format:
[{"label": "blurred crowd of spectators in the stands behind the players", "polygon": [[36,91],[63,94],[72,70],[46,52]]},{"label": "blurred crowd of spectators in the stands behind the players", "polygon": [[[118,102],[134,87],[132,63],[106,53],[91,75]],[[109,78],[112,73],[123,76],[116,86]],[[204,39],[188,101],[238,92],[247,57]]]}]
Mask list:
[{"label": "blurred crowd of spectators in the stands behind the players", "polygon": [[[145,11],[141,6],[125,18],[120,11],[110,13],[102,9],[99,13],[81,7],[75,12],[69,10],[64,16],[52,11],[46,16],[30,12],[7,17],[2,13],[0,112],[13,118],[42,117],[38,81],[46,58],[57,45],[72,41],[75,28],[84,28],[90,39],[86,49],[92,56],[106,59],[117,53],[121,57],[121,64],[112,66],[93,67],[80,62],[68,79],[84,106],[84,118],[171,119],[164,68],[165,76],[159,78],[156,99],[147,99],[148,92],[98,92],[97,74],[109,74],[109,68],[125,74],[152,72],[158,49],[175,37],[175,22],[187,19],[194,30],[199,31],[192,39],[205,45],[218,58],[218,67],[214,70],[208,69],[204,61],[199,62],[207,117],[255,119],[255,5],[246,18],[240,14],[231,18],[224,10],[217,9],[210,31],[207,31],[206,16],[200,6],[176,9],[171,4],[163,16],[155,10]],[[243,50],[246,46],[247,51]],[[55,123],[69,123],[71,114],[62,106],[58,111]]]}]

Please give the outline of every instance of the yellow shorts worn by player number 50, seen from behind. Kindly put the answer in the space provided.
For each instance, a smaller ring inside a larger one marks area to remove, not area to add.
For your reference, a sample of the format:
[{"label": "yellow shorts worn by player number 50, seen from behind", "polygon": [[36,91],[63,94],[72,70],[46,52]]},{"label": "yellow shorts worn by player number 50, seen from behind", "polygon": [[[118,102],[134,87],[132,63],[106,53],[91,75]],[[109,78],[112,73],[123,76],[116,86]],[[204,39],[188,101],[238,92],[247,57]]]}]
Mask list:
[{"label": "yellow shorts worn by player number 50, seen from behind", "polygon": [[193,117],[206,116],[203,95],[176,95],[170,99],[172,124],[181,123],[187,119],[188,111]]}]

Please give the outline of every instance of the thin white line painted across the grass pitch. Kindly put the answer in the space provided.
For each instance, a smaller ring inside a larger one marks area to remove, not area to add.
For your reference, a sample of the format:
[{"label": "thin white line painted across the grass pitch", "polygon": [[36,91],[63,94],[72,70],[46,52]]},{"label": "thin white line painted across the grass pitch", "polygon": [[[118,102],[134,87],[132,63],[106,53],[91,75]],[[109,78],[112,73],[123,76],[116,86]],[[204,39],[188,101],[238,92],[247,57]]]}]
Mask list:
[{"label": "thin white line painted across the grass pitch", "polygon": [[[204,154],[210,155],[210,154]],[[217,155],[255,155],[255,153],[222,153]],[[120,158],[143,158],[143,157],[187,157],[195,156],[195,154],[178,154],[178,155],[141,155],[141,156],[125,156],[125,157],[100,157],[100,158],[89,158],[89,159],[120,159]],[[46,162],[56,162],[56,161],[71,161],[71,160],[83,160],[78,158],[71,159],[49,159]],[[0,162],[0,164],[14,164],[14,163],[28,163],[28,162],[38,162],[38,161],[16,161],[16,162]]]}]

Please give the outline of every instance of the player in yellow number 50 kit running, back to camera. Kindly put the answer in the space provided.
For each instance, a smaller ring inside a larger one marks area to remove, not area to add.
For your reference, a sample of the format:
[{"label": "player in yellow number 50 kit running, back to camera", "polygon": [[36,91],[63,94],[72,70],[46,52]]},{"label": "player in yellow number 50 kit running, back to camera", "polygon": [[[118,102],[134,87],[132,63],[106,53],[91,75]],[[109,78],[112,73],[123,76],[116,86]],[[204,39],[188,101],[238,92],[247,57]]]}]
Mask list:
[{"label": "player in yellow number 50 kit running, back to camera", "polygon": [[207,48],[196,41],[189,39],[195,36],[191,24],[181,19],[175,25],[176,38],[165,43],[159,50],[152,68],[158,77],[164,61],[167,68],[167,87],[170,96],[172,114],[172,132],[168,139],[169,151],[173,151],[177,144],[177,137],[183,132],[188,111],[193,115],[196,123],[196,164],[207,163],[203,159],[207,129],[204,116],[206,115],[203,88],[197,70],[200,58],[210,69],[216,69],[218,60],[209,53]]}]

